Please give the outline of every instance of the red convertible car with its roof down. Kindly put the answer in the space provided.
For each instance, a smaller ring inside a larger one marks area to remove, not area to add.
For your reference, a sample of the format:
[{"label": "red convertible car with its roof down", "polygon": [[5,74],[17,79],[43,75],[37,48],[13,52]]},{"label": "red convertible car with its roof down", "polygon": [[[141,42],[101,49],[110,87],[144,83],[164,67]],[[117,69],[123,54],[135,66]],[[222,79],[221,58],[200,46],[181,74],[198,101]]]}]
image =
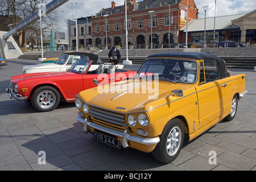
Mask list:
[{"label": "red convertible car with its roof down", "polygon": [[[31,73],[11,78],[6,89],[9,98],[31,102],[38,111],[51,111],[64,99],[75,102],[76,94],[96,87],[93,79],[102,80],[100,85],[134,77],[135,71],[117,69],[115,65],[102,61],[77,60],[66,72]],[[121,76],[120,76],[121,75]]]}]

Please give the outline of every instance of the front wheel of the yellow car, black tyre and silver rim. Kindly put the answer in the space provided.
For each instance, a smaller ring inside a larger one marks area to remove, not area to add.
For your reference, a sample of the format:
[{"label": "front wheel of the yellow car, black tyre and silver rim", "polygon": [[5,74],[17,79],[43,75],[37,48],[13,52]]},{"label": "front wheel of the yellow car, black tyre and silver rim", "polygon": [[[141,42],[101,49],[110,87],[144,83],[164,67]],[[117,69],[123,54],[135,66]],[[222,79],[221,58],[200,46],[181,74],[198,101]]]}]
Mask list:
[{"label": "front wheel of the yellow car, black tyre and silver rim", "polygon": [[171,163],[180,153],[184,141],[184,127],[180,119],[169,121],[160,135],[160,142],[152,152],[154,158],[162,163]]}]

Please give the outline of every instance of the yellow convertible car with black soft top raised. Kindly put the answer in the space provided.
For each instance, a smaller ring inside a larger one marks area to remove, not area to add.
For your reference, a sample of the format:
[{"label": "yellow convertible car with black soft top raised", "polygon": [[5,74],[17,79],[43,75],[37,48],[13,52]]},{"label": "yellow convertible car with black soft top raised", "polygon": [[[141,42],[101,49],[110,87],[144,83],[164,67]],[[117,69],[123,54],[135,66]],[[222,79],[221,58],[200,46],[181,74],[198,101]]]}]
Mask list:
[{"label": "yellow convertible car with black soft top raised", "polygon": [[185,137],[231,121],[247,93],[245,75],[230,75],[225,61],[209,53],[151,55],[134,78],[101,80],[76,96],[84,133],[113,147],[152,152],[163,163],[179,155]]}]

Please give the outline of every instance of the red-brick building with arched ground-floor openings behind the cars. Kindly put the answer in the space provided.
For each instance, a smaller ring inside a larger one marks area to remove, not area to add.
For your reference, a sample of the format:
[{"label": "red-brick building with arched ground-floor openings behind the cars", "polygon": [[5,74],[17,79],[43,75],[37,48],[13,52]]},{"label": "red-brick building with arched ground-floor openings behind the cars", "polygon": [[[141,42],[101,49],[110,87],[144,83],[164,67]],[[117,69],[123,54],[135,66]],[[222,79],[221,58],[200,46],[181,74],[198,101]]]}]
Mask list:
[{"label": "red-brick building with arched ground-floor openings behind the cars", "polygon": [[[129,46],[137,48],[150,46],[151,22],[154,47],[168,47],[169,31],[170,43],[180,43],[180,29],[186,24],[186,9],[187,0],[144,0],[142,2],[127,0]],[[197,15],[198,9],[195,2],[189,0],[188,22],[191,19],[197,19]],[[105,47],[106,36],[108,48],[125,45],[125,5],[115,6],[113,1],[111,7],[103,8],[92,18],[92,46]]]}]

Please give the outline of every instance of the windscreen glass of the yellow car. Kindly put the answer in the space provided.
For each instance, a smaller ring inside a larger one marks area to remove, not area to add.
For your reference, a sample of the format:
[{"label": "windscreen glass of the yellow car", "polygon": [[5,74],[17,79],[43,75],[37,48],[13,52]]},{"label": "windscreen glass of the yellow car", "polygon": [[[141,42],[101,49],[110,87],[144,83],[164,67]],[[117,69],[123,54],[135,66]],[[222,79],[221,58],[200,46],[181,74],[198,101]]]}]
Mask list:
[{"label": "windscreen glass of the yellow car", "polygon": [[197,62],[190,60],[146,60],[135,77],[194,83],[197,81]]}]

